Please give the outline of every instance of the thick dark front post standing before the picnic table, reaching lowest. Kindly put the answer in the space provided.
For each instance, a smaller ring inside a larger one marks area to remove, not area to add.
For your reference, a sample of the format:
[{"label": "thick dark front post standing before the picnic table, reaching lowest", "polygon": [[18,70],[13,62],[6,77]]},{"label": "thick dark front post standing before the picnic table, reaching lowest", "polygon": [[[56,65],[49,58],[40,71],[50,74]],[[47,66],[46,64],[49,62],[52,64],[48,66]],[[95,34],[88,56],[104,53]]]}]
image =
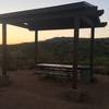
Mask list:
[{"label": "thick dark front post standing before the picnic table, reaching lowest", "polygon": [[74,17],[74,44],[73,44],[73,88],[77,88],[77,49],[78,49],[80,19]]}]

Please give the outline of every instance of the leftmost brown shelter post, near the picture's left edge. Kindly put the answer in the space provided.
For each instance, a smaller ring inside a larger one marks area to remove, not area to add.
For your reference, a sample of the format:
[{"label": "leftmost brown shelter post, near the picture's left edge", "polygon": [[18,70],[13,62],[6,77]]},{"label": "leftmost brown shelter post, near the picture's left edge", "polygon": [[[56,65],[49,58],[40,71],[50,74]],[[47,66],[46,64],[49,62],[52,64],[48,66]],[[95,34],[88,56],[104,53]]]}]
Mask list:
[{"label": "leftmost brown shelter post, near the picture's left edge", "polygon": [[2,24],[2,76],[7,76],[7,24]]}]

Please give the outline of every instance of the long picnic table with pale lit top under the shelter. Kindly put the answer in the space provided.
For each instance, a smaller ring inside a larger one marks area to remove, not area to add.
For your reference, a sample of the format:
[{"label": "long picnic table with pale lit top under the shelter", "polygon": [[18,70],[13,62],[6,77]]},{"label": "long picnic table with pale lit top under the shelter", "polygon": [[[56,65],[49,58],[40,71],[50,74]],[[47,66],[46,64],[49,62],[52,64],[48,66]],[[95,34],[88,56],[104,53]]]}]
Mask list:
[{"label": "long picnic table with pale lit top under the shelter", "polygon": [[[89,70],[89,65],[78,65],[78,72],[82,70]],[[73,65],[71,64],[49,64],[38,63],[36,65],[36,73],[39,75],[60,75],[72,77]]]}]

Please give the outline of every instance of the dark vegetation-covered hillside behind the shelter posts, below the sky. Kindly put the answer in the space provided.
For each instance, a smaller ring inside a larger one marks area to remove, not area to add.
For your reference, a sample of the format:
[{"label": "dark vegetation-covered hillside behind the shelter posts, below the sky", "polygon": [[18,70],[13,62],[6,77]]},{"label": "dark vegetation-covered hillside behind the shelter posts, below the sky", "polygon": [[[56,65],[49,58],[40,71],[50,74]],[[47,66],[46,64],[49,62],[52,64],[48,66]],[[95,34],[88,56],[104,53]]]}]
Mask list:
[{"label": "dark vegetation-covered hillside behind the shelter posts, below the sky", "polygon": [[[35,57],[34,43],[8,46],[8,69],[32,69]],[[2,59],[2,47],[0,46],[0,64]],[[89,39],[81,38],[78,45],[78,63],[89,64]],[[38,62],[48,63],[72,63],[73,38],[59,37],[38,44]],[[95,66],[99,66],[99,72],[108,73],[109,65],[109,38],[95,39]]]}]

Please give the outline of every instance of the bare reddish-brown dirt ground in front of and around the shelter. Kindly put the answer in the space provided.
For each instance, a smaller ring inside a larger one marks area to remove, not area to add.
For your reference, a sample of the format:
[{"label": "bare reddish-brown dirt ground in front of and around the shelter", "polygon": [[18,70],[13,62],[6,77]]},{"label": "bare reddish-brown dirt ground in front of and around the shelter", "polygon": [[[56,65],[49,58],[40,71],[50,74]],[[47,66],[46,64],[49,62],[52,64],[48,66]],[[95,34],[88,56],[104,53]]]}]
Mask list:
[{"label": "bare reddish-brown dirt ground in front of and around the shelter", "polygon": [[74,102],[65,95],[69,83],[40,80],[34,70],[9,72],[11,84],[0,88],[0,109],[109,109],[109,76],[97,75],[87,86],[88,100]]}]

